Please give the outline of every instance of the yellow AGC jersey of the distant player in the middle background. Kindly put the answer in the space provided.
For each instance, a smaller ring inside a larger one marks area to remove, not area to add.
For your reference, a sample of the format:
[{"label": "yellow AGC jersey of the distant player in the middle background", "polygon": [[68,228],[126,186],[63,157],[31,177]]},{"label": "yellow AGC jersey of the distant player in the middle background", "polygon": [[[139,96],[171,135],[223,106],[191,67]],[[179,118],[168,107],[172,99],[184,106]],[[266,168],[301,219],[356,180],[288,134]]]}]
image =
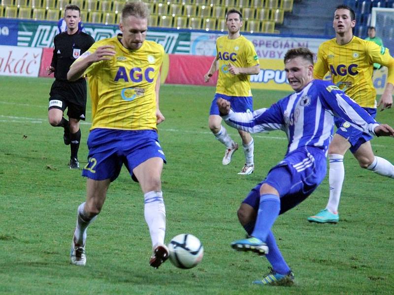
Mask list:
[{"label": "yellow AGC jersey of the distant player in the middle background", "polygon": [[219,61],[219,76],[216,93],[229,96],[252,96],[249,75],[231,75],[229,64],[236,67],[251,67],[259,64],[255,47],[244,36],[229,39],[221,36],[216,40],[216,58]]}]

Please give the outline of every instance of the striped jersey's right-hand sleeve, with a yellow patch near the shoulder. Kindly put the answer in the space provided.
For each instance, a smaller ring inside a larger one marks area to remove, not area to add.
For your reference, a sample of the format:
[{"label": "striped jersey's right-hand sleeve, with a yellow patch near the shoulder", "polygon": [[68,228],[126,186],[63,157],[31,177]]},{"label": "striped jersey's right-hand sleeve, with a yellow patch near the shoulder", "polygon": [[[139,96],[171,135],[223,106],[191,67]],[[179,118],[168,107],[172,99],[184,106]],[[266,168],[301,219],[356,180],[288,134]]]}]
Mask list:
[{"label": "striped jersey's right-hand sleeve, with a yellow patch near the shoulder", "polygon": [[342,90],[334,85],[322,84],[319,92],[323,107],[334,116],[343,118],[356,129],[375,135],[374,129],[379,124]]}]

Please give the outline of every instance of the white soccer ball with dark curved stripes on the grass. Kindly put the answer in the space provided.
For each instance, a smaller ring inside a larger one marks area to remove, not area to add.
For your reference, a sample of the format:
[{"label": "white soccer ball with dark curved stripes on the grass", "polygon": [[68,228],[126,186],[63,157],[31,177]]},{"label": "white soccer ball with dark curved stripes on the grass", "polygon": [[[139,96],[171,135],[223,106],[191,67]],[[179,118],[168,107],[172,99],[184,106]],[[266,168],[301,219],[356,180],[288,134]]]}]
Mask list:
[{"label": "white soccer ball with dark curved stripes on the grass", "polygon": [[169,260],[179,268],[197,266],[204,255],[204,247],[200,240],[190,234],[181,234],[171,239],[168,244]]}]

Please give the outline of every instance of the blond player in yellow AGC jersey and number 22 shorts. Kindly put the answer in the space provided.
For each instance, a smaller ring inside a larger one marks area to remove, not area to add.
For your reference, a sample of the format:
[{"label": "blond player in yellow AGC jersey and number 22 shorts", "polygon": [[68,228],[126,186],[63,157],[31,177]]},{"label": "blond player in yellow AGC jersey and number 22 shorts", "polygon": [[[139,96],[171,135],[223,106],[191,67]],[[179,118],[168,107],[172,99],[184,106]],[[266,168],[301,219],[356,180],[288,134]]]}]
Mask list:
[{"label": "blond player in yellow AGC jersey and number 22 shorts", "polygon": [[153,246],[149,263],[157,268],[168,258],[161,187],[165,156],[156,127],[164,120],[159,110],[164,49],[145,41],[148,16],[145,3],[125,4],[119,25],[122,33],[93,44],[67,74],[70,81],[87,75],[93,105],[88,164],[82,172],[88,177],[87,197],[78,207],[71,244],[74,265],[86,264],[86,229],[99,214],[123,164],[144,193],[144,215]]}]

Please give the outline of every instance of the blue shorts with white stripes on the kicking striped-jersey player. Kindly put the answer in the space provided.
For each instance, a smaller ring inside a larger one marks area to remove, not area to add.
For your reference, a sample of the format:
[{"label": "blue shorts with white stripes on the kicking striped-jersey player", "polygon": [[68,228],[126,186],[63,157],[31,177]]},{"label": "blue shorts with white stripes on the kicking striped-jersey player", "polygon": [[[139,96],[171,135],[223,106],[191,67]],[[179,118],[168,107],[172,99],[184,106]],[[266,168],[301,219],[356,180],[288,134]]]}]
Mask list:
[{"label": "blue shorts with white stripes on the kicking striped-jersey player", "polygon": [[267,183],[279,192],[279,214],[282,214],[312,194],[323,181],[326,172],[326,155],[321,149],[298,148],[273,167],[242,203],[252,206],[257,212],[260,205],[260,187]]}]

